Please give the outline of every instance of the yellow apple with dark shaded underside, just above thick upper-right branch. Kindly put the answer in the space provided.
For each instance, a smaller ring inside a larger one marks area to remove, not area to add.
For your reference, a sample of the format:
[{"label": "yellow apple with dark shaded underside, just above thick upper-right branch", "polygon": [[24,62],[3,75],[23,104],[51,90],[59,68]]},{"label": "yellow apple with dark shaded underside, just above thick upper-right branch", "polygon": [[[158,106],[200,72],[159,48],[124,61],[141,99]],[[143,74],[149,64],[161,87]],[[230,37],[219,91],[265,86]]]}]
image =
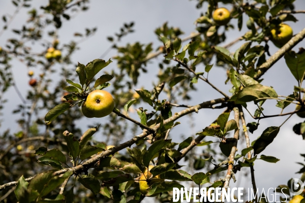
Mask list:
[{"label": "yellow apple with dark shaded underside, just above thick upper-right branch", "polygon": [[284,23],[271,29],[271,41],[279,48],[283,47],[292,38],[292,35],[292,28]]}]

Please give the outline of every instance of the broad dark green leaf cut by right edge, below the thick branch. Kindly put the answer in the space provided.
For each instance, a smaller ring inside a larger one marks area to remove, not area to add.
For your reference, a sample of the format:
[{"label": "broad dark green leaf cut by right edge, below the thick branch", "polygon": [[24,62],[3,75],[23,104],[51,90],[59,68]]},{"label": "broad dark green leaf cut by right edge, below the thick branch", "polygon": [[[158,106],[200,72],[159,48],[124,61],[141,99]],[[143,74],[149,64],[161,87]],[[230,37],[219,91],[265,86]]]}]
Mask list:
[{"label": "broad dark green leaf cut by right edge, below the thick branch", "polygon": [[284,56],[290,72],[297,81],[302,81],[305,74],[305,52],[300,54],[289,51]]}]

